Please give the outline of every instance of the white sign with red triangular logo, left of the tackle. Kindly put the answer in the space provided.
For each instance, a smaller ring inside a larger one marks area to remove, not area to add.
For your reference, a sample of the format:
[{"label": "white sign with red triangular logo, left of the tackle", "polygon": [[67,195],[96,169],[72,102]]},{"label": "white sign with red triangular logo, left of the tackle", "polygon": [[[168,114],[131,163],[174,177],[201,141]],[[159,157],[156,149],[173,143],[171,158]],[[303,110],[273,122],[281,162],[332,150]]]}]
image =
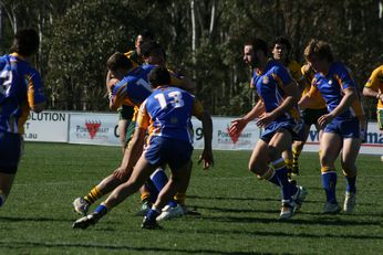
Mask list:
[{"label": "white sign with red triangular logo, left of the tackle", "polygon": [[117,146],[117,114],[72,113],[69,142]]}]

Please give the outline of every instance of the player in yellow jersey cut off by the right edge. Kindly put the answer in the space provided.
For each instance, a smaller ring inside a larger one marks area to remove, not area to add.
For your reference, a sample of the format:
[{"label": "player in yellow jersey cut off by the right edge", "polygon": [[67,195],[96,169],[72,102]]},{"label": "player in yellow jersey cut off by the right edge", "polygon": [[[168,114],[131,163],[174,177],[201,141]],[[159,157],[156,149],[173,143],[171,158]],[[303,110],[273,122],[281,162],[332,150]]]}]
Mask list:
[{"label": "player in yellow jersey cut off by the right edge", "polygon": [[375,68],[363,88],[363,96],[376,98],[379,129],[383,131],[383,65]]}]

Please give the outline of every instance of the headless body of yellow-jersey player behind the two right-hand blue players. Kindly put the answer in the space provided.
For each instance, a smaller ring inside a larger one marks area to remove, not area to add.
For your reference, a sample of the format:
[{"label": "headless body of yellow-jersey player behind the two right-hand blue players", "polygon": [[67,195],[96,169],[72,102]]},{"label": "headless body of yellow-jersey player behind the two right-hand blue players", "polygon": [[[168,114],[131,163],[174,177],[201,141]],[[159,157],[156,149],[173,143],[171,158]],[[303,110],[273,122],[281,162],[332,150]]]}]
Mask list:
[{"label": "headless body of yellow-jersey player behind the two right-hand blue players", "polygon": [[[301,68],[301,73],[304,77],[304,89],[302,92],[302,97],[310,91],[312,78],[315,72],[309,64],[306,64]],[[328,114],[325,107],[325,102],[320,93],[315,94],[310,98],[311,106],[302,110],[302,118],[304,121],[304,139],[301,141],[294,141],[292,145],[292,173],[299,174],[298,158],[303,149],[306,140],[308,139],[311,125],[315,125],[318,130],[319,140],[322,136],[322,128],[318,125],[318,119],[320,116]],[[320,149],[319,149],[320,152]]]}]

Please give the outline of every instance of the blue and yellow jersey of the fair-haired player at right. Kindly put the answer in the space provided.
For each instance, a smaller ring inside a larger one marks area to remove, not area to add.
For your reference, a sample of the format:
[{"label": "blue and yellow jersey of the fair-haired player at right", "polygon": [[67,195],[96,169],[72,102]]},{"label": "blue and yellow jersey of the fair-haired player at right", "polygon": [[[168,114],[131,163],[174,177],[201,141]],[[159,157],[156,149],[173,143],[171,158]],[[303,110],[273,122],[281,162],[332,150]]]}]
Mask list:
[{"label": "blue and yellow jersey of the fair-haired player at right", "polygon": [[356,84],[351,77],[349,70],[342,63],[332,63],[327,75],[317,73],[312,81],[309,96],[311,98],[313,94],[320,92],[330,113],[340,104],[344,96],[343,91],[349,87],[355,88],[358,97],[352,105],[342,114],[337,116],[335,119],[342,120],[353,117],[364,118],[364,110],[360,102],[360,93]]}]

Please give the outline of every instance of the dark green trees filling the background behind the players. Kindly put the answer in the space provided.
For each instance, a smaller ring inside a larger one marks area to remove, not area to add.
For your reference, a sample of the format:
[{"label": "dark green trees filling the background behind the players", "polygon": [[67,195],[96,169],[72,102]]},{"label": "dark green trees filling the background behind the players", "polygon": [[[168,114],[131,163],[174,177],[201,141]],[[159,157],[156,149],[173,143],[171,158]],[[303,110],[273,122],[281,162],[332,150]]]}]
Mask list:
[{"label": "dark green trees filling the background behind the players", "polygon": [[[381,6],[380,6],[381,4]],[[271,42],[288,36],[291,56],[303,63],[311,38],[328,41],[352,71],[360,87],[382,64],[382,0],[0,0],[4,41],[14,23],[38,28],[42,49],[37,64],[50,107],[106,110],[105,62],[133,47],[149,29],[167,53],[168,67],[197,83],[196,95],[214,115],[250,109],[250,71],[242,63],[246,39]],[[374,102],[365,100],[374,117]]]}]

